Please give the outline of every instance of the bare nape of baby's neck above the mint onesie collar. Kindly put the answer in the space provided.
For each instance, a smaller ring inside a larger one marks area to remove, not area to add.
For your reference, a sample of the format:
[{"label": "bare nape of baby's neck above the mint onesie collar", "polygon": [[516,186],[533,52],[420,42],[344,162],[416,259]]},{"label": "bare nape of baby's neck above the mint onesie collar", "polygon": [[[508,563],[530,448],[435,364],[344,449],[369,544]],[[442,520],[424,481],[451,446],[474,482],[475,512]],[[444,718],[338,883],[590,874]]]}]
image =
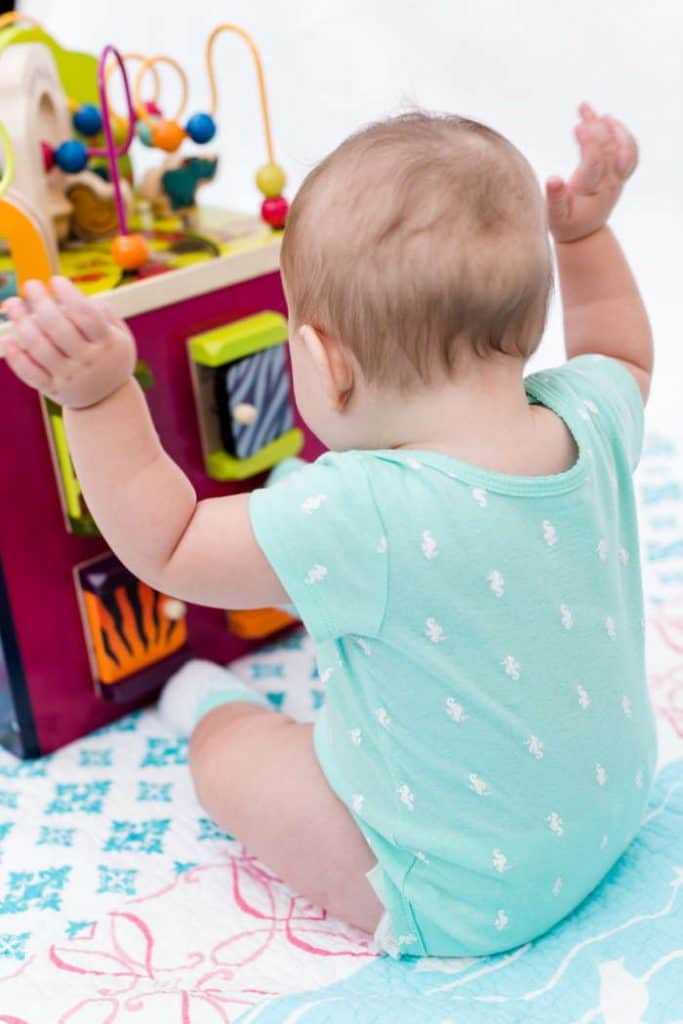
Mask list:
[{"label": "bare nape of baby's neck above the mint onesie collar", "polygon": [[476,360],[469,372],[411,395],[382,400],[378,445],[441,452],[493,472],[561,473],[577,460],[558,416],[530,406],[521,359]]}]

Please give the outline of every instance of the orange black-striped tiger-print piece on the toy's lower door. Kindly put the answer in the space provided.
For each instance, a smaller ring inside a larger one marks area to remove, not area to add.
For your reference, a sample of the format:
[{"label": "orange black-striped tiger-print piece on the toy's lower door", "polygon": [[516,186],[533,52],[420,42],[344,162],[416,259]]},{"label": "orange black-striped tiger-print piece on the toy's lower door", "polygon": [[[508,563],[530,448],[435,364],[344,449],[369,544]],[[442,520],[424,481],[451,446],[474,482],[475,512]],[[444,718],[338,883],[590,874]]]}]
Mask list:
[{"label": "orange black-striped tiger-print piece on the toy's lower door", "polygon": [[164,600],[159,600],[155,591],[146,584],[137,584],[144,639],[138,632],[125,587],[117,587],[114,591],[114,598],[121,612],[120,626],[117,626],[96,594],[83,590],[82,595],[100,683],[116,683],[120,679],[126,679],[179,650],[187,640],[184,618],[168,618],[164,614]]}]

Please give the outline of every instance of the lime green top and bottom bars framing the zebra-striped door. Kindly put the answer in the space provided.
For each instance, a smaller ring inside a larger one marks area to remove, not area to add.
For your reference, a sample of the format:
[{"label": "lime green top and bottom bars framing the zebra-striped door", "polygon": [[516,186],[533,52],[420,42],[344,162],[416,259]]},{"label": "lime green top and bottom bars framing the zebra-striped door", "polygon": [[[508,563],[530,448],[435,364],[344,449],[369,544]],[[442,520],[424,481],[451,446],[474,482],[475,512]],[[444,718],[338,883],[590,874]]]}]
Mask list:
[{"label": "lime green top and bottom bars framing the zebra-striped door", "polygon": [[[284,316],[274,312],[257,313],[189,338],[187,347],[190,364],[215,369],[273,345],[282,345],[287,337],[287,321]],[[206,471],[214,480],[246,480],[271,469],[284,459],[298,455],[302,446],[303,433],[295,427],[248,459],[237,459],[222,450],[205,451]]]}]

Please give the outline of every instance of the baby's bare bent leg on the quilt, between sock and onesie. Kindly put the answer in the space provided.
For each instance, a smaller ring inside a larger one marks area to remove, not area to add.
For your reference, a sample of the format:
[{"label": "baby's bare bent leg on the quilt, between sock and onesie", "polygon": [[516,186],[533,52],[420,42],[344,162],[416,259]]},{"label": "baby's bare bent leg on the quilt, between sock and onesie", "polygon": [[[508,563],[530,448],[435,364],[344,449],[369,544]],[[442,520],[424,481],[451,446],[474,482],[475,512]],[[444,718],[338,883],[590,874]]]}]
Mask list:
[{"label": "baby's bare bent leg on the quilt, between sock and onesie", "polygon": [[255,705],[221,705],[189,745],[197,794],[211,817],[292,889],[374,932],[383,907],[366,878],[376,858],[330,788],[312,726]]}]

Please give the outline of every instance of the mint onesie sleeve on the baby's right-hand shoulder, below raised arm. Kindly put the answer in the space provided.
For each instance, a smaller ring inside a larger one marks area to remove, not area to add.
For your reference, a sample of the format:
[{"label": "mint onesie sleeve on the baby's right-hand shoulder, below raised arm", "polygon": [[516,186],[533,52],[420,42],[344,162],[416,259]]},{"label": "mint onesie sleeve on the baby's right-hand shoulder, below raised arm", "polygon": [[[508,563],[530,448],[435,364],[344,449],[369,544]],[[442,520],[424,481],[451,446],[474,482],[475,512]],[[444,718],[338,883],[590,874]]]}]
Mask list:
[{"label": "mint onesie sleeve on the baby's right-hand shoulder, below raised arm", "polygon": [[579,414],[602,431],[615,459],[633,473],[642,452],[644,419],[633,374],[606,355],[578,355],[548,376],[572,392]]}]

